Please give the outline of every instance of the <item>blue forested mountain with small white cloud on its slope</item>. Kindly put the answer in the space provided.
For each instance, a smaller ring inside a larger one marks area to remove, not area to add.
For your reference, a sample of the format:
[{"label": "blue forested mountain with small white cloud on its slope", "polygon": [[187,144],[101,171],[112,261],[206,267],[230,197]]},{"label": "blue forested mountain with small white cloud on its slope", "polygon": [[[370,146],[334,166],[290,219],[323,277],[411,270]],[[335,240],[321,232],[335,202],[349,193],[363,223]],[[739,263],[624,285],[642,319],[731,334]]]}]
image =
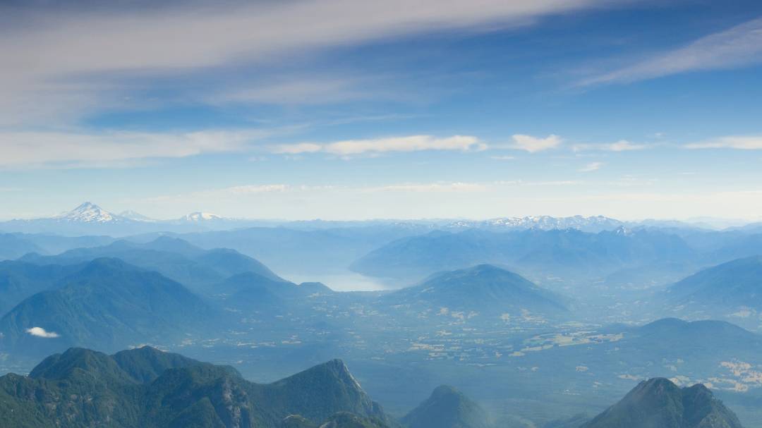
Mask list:
[{"label": "blue forested mountain with small white cloud on its slope", "polygon": [[201,299],[159,273],[98,259],[8,311],[0,332],[6,349],[40,355],[70,346],[167,343],[197,331],[211,315]]}]

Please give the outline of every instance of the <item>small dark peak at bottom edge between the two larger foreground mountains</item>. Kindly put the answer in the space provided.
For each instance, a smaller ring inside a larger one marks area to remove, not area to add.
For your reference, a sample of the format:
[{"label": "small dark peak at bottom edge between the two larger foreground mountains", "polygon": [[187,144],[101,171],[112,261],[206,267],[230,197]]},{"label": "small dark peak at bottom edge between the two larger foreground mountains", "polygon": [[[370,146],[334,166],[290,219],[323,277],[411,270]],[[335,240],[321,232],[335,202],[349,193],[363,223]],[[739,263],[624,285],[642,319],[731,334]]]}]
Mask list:
[{"label": "small dark peak at bottom edge between the two larger foreground mountains", "polygon": [[442,385],[402,418],[408,428],[490,428],[484,409],[462,392]]}]

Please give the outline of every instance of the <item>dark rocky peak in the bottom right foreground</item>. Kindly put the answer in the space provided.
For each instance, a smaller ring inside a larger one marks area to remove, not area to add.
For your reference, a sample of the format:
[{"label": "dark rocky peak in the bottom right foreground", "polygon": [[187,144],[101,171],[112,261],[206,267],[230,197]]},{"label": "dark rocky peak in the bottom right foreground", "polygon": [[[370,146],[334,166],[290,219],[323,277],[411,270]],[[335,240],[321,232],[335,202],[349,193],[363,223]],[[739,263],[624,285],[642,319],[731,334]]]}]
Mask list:
[{"label": "dark rocky peak in the bottom right foreground", "polygon": [[704,385],[680,388],[652,378],[581,428],[741,428],[741,423]]}]

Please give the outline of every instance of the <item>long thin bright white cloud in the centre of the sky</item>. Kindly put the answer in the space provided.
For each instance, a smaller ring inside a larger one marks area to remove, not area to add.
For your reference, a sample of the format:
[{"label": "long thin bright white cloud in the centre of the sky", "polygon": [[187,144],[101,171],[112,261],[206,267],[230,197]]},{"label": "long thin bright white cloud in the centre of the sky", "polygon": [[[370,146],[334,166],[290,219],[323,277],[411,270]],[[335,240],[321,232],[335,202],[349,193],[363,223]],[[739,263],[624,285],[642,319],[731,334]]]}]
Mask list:
[{"label": "long thin bright white cloud in the centre of the sky", "polygon": [[485,147],[474,136],[451,136],[447,138],[402,136],[381,139],[351,139],[325,144],[312,142],[283,144],[271,147],[271,152],[287,155],[325,152],[331,155],[351,156],[364,153],[421,152],[424,150],[459,150],[465,152],[481,150]]}]

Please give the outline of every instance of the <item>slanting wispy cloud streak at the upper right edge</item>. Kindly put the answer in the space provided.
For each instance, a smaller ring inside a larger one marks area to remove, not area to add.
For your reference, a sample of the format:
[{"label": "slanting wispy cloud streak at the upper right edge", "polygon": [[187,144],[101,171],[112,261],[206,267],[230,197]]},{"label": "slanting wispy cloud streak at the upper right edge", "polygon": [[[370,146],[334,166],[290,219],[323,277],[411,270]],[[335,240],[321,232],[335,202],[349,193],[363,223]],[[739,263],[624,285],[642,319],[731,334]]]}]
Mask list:
[{"label": "slanting wispy cloud streak at the upper right edge", "polygon": [[762,62],[762,18],[702,37],[680,49],[588,78],[580,85],[639,81],[696,70],[732,69],[757,62]]}]

